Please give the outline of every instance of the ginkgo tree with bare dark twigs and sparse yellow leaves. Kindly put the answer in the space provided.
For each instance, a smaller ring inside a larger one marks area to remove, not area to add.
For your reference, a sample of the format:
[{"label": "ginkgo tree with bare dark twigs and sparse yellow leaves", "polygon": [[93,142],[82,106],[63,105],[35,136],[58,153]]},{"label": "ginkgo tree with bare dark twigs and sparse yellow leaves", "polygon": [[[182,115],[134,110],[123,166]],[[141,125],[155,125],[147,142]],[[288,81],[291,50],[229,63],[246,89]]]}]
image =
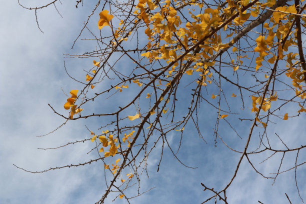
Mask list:
[{"label": "ginkgo tree with bare dark twigs and sparse yellow leaves", "polygon": [[[37,7],[19,4],[34,10],[40,29],[36,11],[57,1]],[[76,8],[80,2],[76,1]],[[92,142],[93,149],[97,150],[96,159],[30,172],[99,161],[111,181],[106,182],[100,199],[93,201],[103,203],[111,196],[129,203],[142,193],[135,189],[134,194],[128,194],[126,190],[137,188],[134,182],[140,183],[139,176],[146,170],[147,159],[156,146],[162,147],[157,171],[164,148],[170,150],[183,168],[189,167],[177,152],[184,151],[182,138],[197,133],[203,140],[213,137],[215,146],[219,141],[219,145],[239,155],[231,177],[222,188],[199,181],[203,190],[210,191],[208,197],[203,194],[202,203],[217,200],[228,203],[231,195],[226,191],[239,176],[242,160],[247,160],[258,176],[273,182],[278,176],[286,176],[284,172],[295,170],[292,179],[295,177],[296,191],[302,200],[296,169],[306,162],[297,162],[306,144],[288,147],[281,139],[287,135],[276,134],[275,140],[272,139],[275,135],[267,132],[271,124],[277,126],[282,120],[288,126],[290,118],[305,120],[304,0],[82,3],[92,4],[93,10],[78,36],[93,23],[95,28],[89,31],[97,45],[93,51],[68,55],[91,57],[93,63],[87,65],[83,78],[77,80],[77,87],[65,90],[70,95],[62,102],[64,109],[49,106],[65,122],[89,117],[103,117],[109,122],[88,129],[87,138],[76,141]],[[128,67],[122,69],[124,63]],[[112,109],[101,108],[94,113],[86,109],[89,105],[101,105],[96,103],[101,99],[111,101]],[[295,110],[287,111],[288,105],[293,105]],[[214,115],[212,126],[201,123],[206,111]],[[247,134],[239,134],[237,122],[243,122]],[[211,134],[203,136],[203,129],[211,130]],[[238,137],[226,141],[220,129],[232,131]],[[170,133],[179,138],[175,140],[177,143],[168,141]],[[245,141],[243,146],[229,144],[239,137]],[[274,147],[272,142],[279,141],[283,145]],[[295,154],[295,163],[280,170],[287,162],[284,156],[288,153]],[[275,172],[268,175],[251,159],[257,156],[268,160],[275,154],[280,159],[274,166]],[[287,199],[290,201],[288,196]]]}]

